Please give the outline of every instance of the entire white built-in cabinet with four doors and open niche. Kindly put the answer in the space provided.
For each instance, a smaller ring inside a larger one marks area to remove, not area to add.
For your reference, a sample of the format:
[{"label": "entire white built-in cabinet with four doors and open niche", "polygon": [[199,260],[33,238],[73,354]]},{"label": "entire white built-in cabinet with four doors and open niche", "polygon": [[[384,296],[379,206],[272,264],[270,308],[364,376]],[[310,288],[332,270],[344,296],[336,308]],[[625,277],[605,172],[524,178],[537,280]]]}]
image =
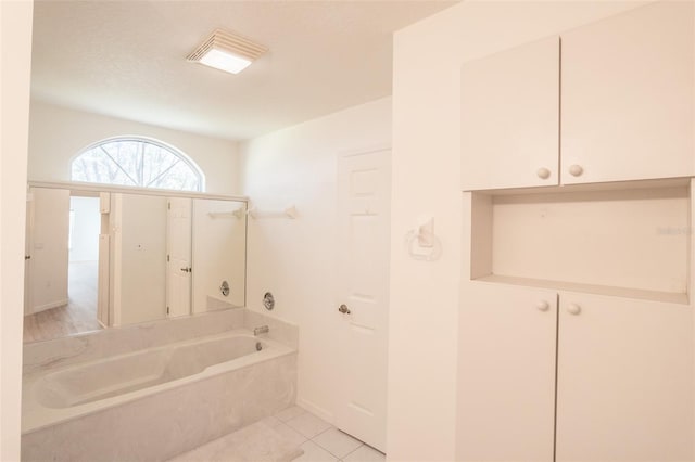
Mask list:
[{"label": "entire white built-in cabinet with four doors and open niche", "polygon": [[694,25],[649,3],[462,68],[464,460],[695,458]]}]

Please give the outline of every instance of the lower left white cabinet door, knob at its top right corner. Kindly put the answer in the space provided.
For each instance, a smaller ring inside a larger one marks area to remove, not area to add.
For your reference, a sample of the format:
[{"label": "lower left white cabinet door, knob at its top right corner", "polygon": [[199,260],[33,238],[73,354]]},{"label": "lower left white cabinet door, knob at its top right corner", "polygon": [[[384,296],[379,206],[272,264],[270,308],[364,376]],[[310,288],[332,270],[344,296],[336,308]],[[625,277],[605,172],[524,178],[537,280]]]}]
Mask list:
[{"label": "lower left white cabinet door, knob at its top right corner", "polygon": [[557,294],[469,282],[462,295],[457,460],[552,461]]}]

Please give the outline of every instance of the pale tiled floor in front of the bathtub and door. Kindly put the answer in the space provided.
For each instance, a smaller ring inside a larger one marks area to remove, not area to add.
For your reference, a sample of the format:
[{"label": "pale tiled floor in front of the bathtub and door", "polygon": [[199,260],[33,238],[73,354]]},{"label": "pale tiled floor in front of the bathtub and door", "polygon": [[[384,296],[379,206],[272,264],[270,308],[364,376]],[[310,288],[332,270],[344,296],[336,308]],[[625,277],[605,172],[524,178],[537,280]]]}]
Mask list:
[{"label": "pale tiled floor in front of the bathtub and door", "polygon": [[386,455],[292,406],[167,462],[384,462]]}]

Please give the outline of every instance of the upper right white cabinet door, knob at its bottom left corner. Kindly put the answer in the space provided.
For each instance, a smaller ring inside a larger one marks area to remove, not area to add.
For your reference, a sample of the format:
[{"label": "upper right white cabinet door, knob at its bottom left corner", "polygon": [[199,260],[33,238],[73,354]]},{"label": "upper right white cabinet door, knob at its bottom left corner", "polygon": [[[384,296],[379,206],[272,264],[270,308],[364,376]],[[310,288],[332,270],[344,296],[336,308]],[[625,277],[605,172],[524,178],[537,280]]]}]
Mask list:
[{"label": "upper right white cabinet door, knob at its bottom left corner", "polygon": [[695,175],[693,22],[662,1],[563,35],[563,183]]}]

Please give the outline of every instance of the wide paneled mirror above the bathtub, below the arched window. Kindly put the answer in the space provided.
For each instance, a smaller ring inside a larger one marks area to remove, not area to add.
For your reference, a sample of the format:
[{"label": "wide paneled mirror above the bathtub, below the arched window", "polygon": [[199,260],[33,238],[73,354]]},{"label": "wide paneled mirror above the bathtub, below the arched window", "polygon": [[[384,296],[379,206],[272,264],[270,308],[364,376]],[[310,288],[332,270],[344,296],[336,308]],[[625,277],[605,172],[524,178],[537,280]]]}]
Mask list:
[{"label": "wide paneled mirror above the bathtub, below the arched window", "polygon": [[[43,243],[45,251],[34,252],[31,261],[43,261],[45,271],[25,283],[27,291],[43,287],[43,298],[27,299],[25,342],[101,329],[98,319],[105,326],[127,325],[245,305],[244,202],[114,192],[101,198],[111,205],[101,213],[100,191],[93,190],[72,198],[72,222],[70,197],[76,192],[31,188],[31,193],[27,214],[34,226],[27,236]],[[56,205],[59,200],[63,205]],[[119,245],[110,248],[109,242]],[[47,260],[50,243],[64,248],[63,260]],[[100,288],[97,271],[113,285]],[[61,274],[67,281],[67,304],[51,316],[39,312],[36,307],[64,298],[52,292]],[[229,291],[220,288],[224,282]],[[106,294],[98,296],[100,290]]]}]

